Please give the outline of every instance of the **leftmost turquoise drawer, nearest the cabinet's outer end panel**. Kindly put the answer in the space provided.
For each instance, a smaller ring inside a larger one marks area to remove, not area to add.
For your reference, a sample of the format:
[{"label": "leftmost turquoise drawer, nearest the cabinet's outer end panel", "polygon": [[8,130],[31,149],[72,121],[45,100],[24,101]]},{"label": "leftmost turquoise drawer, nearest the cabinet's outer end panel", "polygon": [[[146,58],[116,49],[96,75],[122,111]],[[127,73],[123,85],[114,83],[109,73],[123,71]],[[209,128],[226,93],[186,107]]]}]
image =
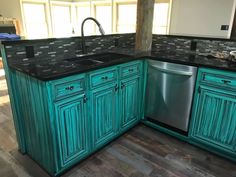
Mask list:
[{"label": "leftmost turquoise drawer, nearest the cabinet's outer end panel", "polygon": [[53,83],[54,99],[58,100],[64,97],[72,96],[79,92],[85,91],[85,77],[65,79]]}]

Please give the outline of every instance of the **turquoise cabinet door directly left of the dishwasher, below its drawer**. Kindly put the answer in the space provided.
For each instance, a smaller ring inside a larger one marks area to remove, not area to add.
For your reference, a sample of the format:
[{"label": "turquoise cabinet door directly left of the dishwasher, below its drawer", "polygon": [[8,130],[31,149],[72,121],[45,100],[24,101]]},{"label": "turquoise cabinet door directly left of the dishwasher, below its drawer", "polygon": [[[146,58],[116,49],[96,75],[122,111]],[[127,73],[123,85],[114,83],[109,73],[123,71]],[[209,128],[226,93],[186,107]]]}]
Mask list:
[{"label": "turquoise cabinet door directly left of the dishwasher, below its drawer", "polygon": [[140,76],[123,79],[120,83],[120,129],[125,131],[140,119],[142,89]]}]

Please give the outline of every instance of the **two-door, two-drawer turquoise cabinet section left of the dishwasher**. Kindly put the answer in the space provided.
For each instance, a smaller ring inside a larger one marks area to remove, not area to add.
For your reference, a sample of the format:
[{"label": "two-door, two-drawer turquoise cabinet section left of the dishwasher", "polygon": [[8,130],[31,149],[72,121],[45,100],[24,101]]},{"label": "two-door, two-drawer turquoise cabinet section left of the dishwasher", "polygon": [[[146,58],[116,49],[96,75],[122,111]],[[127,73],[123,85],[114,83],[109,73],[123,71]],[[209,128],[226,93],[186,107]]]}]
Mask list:
[{"label": "two-door, two-drawer turquoise cabinet section left of the dishwasher", "polygon": [[139,122],[142,63],[129,62],[90,74],[93,148],[100,148]]}]

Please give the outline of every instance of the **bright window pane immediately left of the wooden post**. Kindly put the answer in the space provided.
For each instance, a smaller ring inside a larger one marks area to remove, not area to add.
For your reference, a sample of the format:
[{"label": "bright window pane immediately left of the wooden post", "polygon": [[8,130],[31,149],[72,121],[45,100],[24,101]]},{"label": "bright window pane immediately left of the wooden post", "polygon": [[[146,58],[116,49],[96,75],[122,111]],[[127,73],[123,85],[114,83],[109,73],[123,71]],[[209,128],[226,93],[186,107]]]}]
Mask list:
[{"label": "bright window pane immediately left of the wooden post", "polygon": [[[118,4],[117,32],[135,32],[136,29],[136,4]],[[127,12],[128,15],[127,15]]]}]

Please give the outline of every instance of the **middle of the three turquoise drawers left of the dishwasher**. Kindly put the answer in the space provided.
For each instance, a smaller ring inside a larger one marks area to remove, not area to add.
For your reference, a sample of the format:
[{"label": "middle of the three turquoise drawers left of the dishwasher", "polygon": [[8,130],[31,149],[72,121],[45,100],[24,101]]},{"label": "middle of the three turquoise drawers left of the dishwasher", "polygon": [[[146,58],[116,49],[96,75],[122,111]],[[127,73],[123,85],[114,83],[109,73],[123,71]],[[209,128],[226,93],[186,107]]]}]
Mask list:
[{"label": "middle of the three turquoise drawers left of the dishwasher", "polygon": [[102,69],[90,74],[91,88],[101,86],[117,80],[117,68]]}]

